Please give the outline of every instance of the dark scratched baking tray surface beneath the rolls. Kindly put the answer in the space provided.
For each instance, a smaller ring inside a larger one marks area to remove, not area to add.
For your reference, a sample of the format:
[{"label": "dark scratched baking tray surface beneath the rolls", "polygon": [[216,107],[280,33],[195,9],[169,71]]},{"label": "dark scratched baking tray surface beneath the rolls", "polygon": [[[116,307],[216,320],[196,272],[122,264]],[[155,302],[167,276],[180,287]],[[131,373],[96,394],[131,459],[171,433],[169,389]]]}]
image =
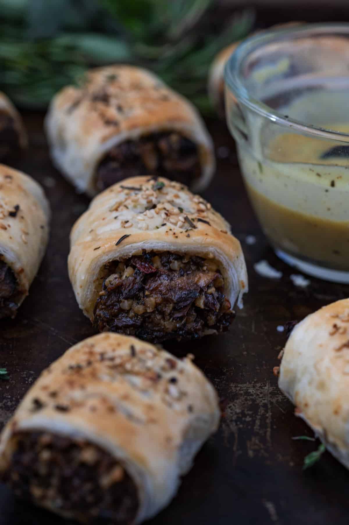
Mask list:
[{"label": "dark scratched baking tray surface beneath the rolls", "polygon": [[[42,132],[42,114],[26,113],[24,118],[30,146],[15,167],[46,188],[53,217],[48,251],[30,295],[15,320],[0,323],[0,366],[6,366],[10,374],[9,381],[0,382],[0,427],[41,370],[94,333],[75,302],[67,274],[70,228],[89,201],[54,170]],[[149,525],[324,525],[330,520],[347,524],[348,474],[329,453],[302,471],[304,456],[318,443],[292,440],[292,436],[312,433],[293,415],[272,368],[286,340],[277,326],[347,297],[349,287],[317,279],[311,279],[305,289],[292,284],[292,271],[268,247],[247,201],[225,124],[212,121],[208,125],[218,165],[204,196],[242,241],[250,292],[230,332],[166,345],[177,355],[195,354],[196,363],[223,400],[225,415],[219,432],[205,444],[183,479],[178,496]],[[256,236],[254,245],[245,242],[250,234]],[[258,276],[253,264],[260,259],[268,259],[283,277]],[[47,523],[63,525],[64,521],[16,500],[0,485],[1,525]]]}]

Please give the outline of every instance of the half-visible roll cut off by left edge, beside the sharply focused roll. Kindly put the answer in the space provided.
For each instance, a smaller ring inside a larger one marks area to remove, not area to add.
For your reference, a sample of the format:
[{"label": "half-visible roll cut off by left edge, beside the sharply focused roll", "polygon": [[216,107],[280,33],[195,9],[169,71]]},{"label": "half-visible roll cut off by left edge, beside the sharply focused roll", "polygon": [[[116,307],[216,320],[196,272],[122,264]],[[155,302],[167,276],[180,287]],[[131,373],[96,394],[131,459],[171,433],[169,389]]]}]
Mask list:
[{"label": "half-visible roll cut off by left edge, beside the sharply focused roll", "polygon": [[15,317],[48,241],[49,204],[31,177],[0,164],[0,319]]}]

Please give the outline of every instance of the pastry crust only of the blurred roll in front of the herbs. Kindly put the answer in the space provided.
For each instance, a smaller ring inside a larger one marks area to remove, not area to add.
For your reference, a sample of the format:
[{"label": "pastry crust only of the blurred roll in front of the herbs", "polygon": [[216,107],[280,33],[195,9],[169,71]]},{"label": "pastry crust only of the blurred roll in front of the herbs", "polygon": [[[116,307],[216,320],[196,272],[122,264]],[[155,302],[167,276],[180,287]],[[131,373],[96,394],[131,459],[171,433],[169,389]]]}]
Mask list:
[{"label": "pastry crust only of the blurred roll in front of the herbs", "polygon": [[213,176],[212,139],[192,104],[150,71],[134,66],[92,69],[81,88],[53,98],[46,118],[53,162],[78,190],[96,194],[95,172],[103,156],[126,140],[178,131],[198,145],[202,166],[194,191]]}]

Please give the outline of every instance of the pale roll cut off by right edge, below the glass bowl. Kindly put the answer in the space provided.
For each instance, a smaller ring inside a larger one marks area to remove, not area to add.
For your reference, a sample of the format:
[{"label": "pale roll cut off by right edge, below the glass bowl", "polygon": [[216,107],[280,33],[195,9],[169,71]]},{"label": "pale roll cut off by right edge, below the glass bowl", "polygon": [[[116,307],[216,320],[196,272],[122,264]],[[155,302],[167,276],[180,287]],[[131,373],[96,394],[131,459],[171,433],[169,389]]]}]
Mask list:
[{"label": "pale roll cut off by right edge, below the glass bowl", "polygon": [[296,325],[283,352],[279,387],[296,414],[349,468],[349,299]]}]

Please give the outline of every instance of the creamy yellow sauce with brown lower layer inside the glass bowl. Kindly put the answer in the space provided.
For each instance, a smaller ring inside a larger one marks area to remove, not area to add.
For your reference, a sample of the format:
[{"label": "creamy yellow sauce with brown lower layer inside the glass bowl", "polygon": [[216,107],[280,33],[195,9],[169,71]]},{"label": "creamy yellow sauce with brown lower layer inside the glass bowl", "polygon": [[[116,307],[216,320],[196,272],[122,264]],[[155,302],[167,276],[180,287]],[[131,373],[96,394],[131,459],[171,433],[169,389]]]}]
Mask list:
[{"label": "creamy yellow sauce with brown lower layer inside the glass bowl", "polygon": [[[322,127],[349,133],[349,124],[342,122]],[[321,159],[335,145],[280,133],[264,145],[263,162],[242,148],[239,157],[271,244],[301,259],[349,270],[349,156]]]}]

